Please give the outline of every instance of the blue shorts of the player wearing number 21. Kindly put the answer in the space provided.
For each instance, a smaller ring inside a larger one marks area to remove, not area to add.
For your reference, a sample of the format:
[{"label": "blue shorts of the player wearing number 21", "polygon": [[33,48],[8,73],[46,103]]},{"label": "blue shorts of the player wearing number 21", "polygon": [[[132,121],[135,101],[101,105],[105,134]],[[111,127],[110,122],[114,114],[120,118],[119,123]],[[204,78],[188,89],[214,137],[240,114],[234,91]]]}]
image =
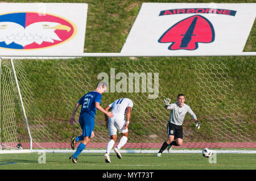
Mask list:
[{"label": "blue shorts of the player wearing number 21", "polygon": [[91,137],[95,125],[94,117],[88,113],[82,113],[79,117],[79,124],[82,128],[82,136]]}]

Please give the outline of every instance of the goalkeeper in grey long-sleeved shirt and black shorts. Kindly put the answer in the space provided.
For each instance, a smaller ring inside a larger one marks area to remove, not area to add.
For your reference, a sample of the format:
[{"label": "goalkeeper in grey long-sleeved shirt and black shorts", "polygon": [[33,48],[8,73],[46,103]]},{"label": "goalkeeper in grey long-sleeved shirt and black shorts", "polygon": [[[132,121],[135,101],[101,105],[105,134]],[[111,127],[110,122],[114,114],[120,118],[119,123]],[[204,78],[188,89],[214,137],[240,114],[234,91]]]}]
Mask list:
[{"label": "goalkeeper in grey long-sleeved shirt and black shorts", "polygon": [[192,119],[196,122],[197,129],[200,128],[200,123],[197,120],[195,113],[191,108],[184,103],[185,96],[179,94],[177,96],[177,102],[170,104],[170,99],[164,99],[164,106],[167,110],[171,110],[171,116],[167,124],[167,133],[168,140],[164,141],[159,152],[156,154],[157,157],[161,157],[163,151],[168,147],[168,152],[171,150],[172,145],[181,146],[183,142],[183,129],[182,123],[185,117],[185,114],[188,112],[191,115]]}]

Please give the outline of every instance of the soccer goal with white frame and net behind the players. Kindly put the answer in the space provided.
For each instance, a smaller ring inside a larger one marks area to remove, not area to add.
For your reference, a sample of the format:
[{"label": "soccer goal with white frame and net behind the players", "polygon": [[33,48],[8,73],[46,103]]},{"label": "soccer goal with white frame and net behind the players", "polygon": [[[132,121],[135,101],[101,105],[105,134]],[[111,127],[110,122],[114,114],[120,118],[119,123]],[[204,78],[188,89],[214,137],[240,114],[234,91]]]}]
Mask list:
[{"label": "soccer goal with white frame and net behind the players", "polygon": [[[108,83],[102,107],[115,99],[134,102],[129,140],[122,153],[156,153],[167,139],[170,110],[179,93],[195,112],[201,128],[187,114],[184,141],[172,153],[256,153],[255,54],[236,56],[147,57],[94,56],[0,58],[0,153],[38,150],[71,152],[76,123],[68,120],[77,101]],[[105,153],[109,141],[104,114],[96,113],[95,137],[84,152]],[[118,134],[118,140],[120,135]],[[117,141],[118,142],[118,141]],[[117,144],[117,143],[116,143]],[[167,151],[164,151],[166,153]]]}]

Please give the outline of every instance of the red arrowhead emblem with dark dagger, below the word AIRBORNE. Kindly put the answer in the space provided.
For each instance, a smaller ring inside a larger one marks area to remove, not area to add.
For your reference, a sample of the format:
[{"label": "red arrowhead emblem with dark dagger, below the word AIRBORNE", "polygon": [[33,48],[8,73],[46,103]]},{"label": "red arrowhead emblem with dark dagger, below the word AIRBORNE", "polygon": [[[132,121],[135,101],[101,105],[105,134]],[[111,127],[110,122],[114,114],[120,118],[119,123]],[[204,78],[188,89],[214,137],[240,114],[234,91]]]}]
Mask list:
[{"label": "red arrowhead emblem with dark dagger, below the word AIRBORNE", "polygon": [[214,41],[212,23],[204,16],[194,15],[177,22],[169,28],[158,40],[159,43],[172,43],[168,49],[195,50],[198,43],[211,43]]}]

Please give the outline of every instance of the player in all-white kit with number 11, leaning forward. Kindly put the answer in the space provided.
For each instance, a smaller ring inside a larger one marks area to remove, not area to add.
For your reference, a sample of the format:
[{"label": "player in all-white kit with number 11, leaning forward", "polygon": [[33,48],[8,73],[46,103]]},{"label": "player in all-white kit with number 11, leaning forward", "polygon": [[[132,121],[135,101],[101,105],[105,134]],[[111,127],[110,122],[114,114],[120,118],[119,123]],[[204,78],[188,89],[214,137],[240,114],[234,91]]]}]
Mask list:
[{"label": "player in all-white kit with number 11, leaning forward", "polygon": [[110,136],[110,141],[108,142],[105,154],[105,162],[107,163],[110,163],[109,153],[110,150],[112,150],[115,141],[117,141],[117,131],[122,134],[122,137],[117,147],[114,148],[114,151],[119,159],[122,158],[119,150],[122,148],[123,145],[126,144],[128,140],[128,126],[130,123],[132,108],[133,101],[128,98],[117,99],[105,108],[106,111],[111,110],[114,115],[111,119],[109,119],[109,117],[105,115],[106,127],[109,129]]}]

